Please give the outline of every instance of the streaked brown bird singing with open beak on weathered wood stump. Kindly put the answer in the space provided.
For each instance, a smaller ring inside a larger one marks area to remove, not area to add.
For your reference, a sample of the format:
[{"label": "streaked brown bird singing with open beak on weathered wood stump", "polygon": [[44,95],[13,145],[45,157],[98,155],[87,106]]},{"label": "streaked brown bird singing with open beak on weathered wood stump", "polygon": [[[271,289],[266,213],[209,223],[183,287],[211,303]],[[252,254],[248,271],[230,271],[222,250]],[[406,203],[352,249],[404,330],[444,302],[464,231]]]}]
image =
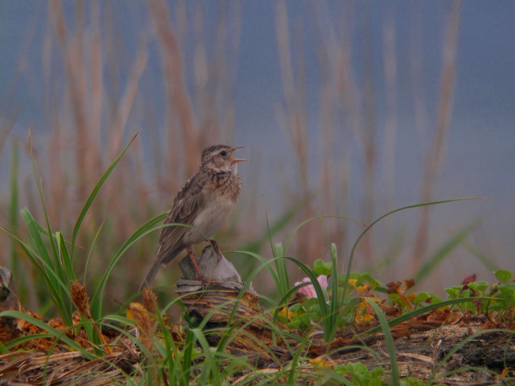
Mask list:
[{"label": "streaked brown bird singing with open beak on weathered wood stump", "polygon": [[[242,146],[243,147],[243,146]],[[199,171],[190,178],[175,196],[165,224],[181,223],[188,226],[163,227],[159,245],[140,291],[150,286],[162,265],[168,264],[186,249],[199,278],[202,278],[192,251],[192,244],[202,240],[211,242],[218,257],[221,256],[216,241],[209,240],[232,213],[242,180],[238,177],[238,162],[233,158],[236,149],[228,145],[213,145],[202,151]]]}]

